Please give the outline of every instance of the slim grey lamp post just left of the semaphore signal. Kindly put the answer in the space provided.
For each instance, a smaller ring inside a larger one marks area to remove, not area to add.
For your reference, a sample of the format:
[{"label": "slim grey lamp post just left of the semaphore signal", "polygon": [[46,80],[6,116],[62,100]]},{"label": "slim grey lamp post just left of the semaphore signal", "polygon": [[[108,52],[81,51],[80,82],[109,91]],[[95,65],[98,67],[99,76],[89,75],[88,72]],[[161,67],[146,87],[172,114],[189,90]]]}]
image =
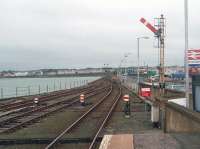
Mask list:
[{"label": "slim grey lamp post just left of the semaphore signal", "polygon": [[139,83],[140,83],[140,39],[149,39],[147,36],[142,36],[137,38],[137,92],[139,93]]}]

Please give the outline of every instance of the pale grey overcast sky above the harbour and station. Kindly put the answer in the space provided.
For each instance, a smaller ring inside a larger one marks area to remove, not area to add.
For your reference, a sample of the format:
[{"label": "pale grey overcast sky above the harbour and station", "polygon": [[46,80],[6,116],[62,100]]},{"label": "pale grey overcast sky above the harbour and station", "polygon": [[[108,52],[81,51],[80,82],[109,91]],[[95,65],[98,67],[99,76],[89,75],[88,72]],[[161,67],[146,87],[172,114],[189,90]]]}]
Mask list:
[{"label": "pale grey overcast sky above the harbour and station", "polygon": [[[200,48],[200,1],[189,1],[189,47]],[[183,65],[184,0],[1,0],[0,70],[158,64],[141,17],[166,17],[167,65]]]}]

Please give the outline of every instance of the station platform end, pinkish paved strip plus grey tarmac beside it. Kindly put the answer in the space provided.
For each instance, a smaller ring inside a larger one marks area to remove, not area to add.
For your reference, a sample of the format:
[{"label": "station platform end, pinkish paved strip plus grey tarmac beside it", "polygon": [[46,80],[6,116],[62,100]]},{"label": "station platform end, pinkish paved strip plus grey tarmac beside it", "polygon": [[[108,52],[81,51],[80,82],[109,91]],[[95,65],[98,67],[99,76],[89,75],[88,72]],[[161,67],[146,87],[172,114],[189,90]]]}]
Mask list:
[{"label": "station platform end, pinkish paved strip plus grey tarmac beside it", "polygon": [[104,135],[99,149],[199,149],[200,134],[149,130],[133,134]]}]

